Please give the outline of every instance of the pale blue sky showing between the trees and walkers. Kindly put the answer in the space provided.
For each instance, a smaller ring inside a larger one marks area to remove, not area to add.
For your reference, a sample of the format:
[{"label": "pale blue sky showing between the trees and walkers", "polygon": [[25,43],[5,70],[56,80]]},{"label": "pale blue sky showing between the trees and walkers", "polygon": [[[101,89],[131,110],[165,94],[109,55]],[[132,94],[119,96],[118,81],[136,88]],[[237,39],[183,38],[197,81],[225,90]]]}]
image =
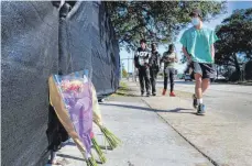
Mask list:
[{"label": "pale blue sky showing between the trees and walkers", "polygon": [[[229,15],[231,15],[231,13],[233,12],[233,10],[237,9],[248,9],[248,8],[252,8],[252,1],[229,1],[228,2],[228,9],[227,9],[227,13],[226,14],[221,14],[219,15],[217,19],[211,20],[210,22],[205,22],[204,25],[208,26],[209,29],[215,30],[215,27],[219,24],[221,24],[222,20],[228,18]],[[191,25],[189,25],[191,26]],[[180,38],[183,32],[185,30],[182,30],[180,33],[178,34],[178,40]],[[182,45],[179,44],[179,42],[175,41],[175,47],[176,47],[176,53],[178,55],[178,58],[182,58]],[[164,45],[158,46],[158,52],[161,53],[161,55],[166,51]],[[125,49],[120,51],[120,56],[121,56],[121,62],[124,64],[125,69],[132,73],[133,70],[133,60],[129,60],[129,65],[128,65],[128,60],[124,58],[132,58],[133,57],[133,53],[128,53]],[[178,70],[178,73],[183,73],[184,69],[186,67],[186,64],[177,64],[175,66],[175,68]]]}]

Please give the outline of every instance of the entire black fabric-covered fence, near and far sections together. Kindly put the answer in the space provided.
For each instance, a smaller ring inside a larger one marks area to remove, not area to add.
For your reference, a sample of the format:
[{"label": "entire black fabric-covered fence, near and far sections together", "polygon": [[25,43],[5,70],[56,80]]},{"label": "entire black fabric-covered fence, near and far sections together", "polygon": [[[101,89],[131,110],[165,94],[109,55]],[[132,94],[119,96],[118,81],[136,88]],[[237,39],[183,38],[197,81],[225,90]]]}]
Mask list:
[{"label": "entire black fabric-covered fence, near and far sections together", "polygon": [[50,75],[89,69],[102,98],[118,88],[119,64],[102,2],[76,2],[70,10],[50,1],[1,2],[2,165],[47,162]]}]

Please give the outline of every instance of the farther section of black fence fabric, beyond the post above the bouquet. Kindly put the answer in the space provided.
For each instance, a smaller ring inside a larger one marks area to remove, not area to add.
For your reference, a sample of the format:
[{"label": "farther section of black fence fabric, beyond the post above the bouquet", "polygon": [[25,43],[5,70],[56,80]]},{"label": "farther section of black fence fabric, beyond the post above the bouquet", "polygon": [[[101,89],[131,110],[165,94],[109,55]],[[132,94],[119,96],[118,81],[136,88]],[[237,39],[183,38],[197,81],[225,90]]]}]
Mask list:
[{"label": "farther section of black fence fabric, beyond the post above the bouquet", "polygon": [[98,98],[114,92],[120,78],[119,45],[103,3],[77,1],[72,7],[65,3],[61,11],[59,70],[89,69]]}]

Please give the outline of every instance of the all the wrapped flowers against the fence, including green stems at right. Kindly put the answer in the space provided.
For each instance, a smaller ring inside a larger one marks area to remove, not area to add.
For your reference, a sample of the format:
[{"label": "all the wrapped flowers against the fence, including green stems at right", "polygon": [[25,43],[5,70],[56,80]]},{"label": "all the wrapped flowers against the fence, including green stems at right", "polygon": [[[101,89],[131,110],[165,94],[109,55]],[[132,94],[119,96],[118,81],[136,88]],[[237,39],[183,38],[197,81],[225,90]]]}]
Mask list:
[{"label": "all the wrapped flowers against the fence, including green stems at right", "polygon": [[121,141],[103,125],[96,89],[85,70],[67,76],[51,76],[48,85],[51,106],[54,107],[61,123],[76,143],[87,165],[97,165],[91,154],[91,144],[101,163],[105,163],[106,157],[92,132],[92,122],[100,128],[111,148],[116,148]]}]

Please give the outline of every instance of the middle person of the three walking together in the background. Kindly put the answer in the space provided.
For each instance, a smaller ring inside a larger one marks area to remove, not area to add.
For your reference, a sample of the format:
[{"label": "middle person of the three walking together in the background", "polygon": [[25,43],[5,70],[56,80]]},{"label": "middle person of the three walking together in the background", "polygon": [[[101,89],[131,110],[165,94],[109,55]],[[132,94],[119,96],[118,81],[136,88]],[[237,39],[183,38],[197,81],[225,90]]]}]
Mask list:
[{"label": "middle person of the three walking together in the background", "polygon": [[151,85],[152,95],[156,96],[156,77],[160,71],[160,53],[156,51],[156,44],[152,43],[152,56],[150,58],[150,74],[151,74]]}]

